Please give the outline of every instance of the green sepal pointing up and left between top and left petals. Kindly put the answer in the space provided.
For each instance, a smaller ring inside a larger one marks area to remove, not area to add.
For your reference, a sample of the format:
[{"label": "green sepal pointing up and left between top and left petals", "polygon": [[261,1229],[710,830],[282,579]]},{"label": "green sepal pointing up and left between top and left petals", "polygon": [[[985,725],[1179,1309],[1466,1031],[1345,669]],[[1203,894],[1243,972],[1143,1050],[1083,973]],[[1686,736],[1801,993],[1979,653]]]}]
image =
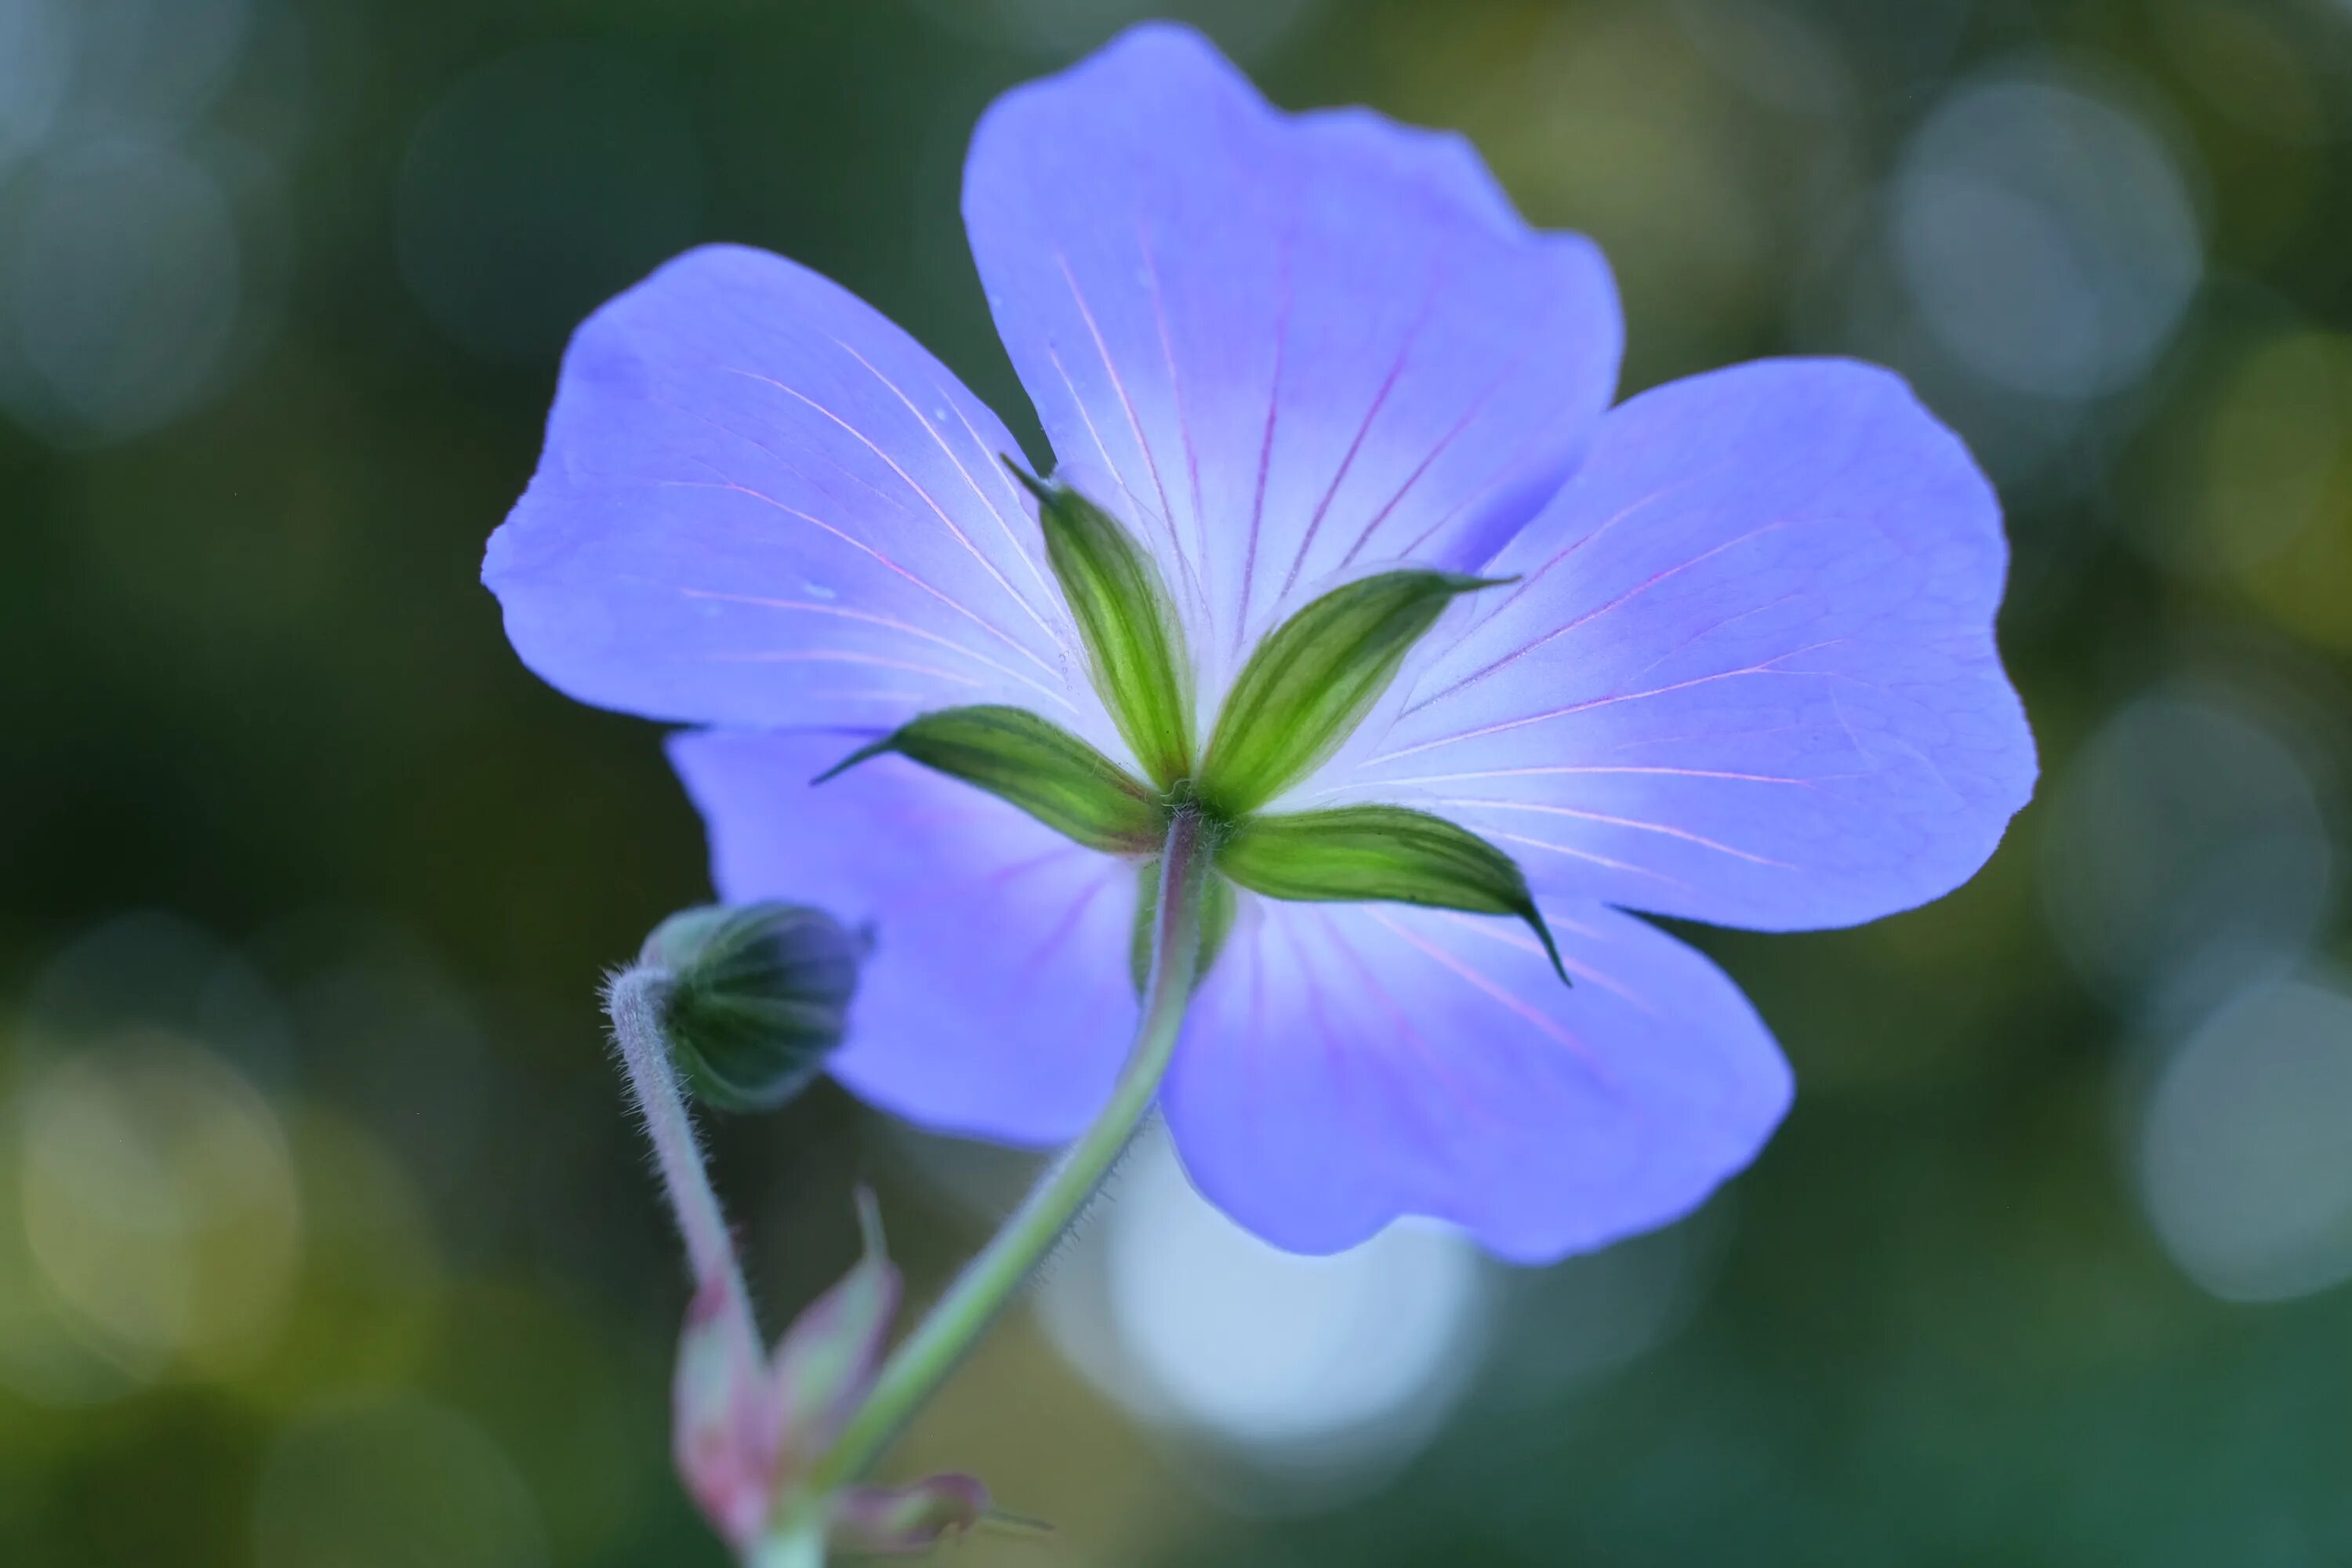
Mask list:
[{"label": "green sepal pointing up and left between top and left petals", "polygon": [[1117,517],[1007,458],[1037,496],[1044,557],[1087,644],[1094,689],[1143,771],[1164,790],[1192,771],[1192,663],[1160,569]]}]

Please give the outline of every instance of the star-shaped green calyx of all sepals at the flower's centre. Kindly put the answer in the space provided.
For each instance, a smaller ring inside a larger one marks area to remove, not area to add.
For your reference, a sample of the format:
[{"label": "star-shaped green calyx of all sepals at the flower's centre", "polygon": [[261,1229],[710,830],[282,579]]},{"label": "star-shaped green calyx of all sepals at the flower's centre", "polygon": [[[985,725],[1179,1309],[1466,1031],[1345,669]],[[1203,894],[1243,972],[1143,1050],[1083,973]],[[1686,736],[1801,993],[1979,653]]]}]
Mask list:
[{"label": "star-shaped green calyx of all sepals at the flower's centre", "polygon": [[[818,773],[896,752],[1021,806],[1087,849],[1157,853],[1169,820],[1209,825],[1221,919],[1202,973],[1232,924],[1232,889],[1301,903],[1409,903],[1515,914],[1569,978],[1519,865],[1465,827],[1404,806],[1261,811],[1324,762],[1397,677],[1397,665],[1456,595],[1503,581],[1383,571],[1334,588],[1265,635],[1242,665],[1207,752],[1195,762],[1192,672],[1150,557],[1103,508],[1063,487],[1037,496],[1047,559],[1089,649],[1094,686],[1152,783],[1021,708],[946,708],[901,724]],[[1157,785],[1157,788],[1155,788]],[[1143,863],[1136,952],[1150,945],[1155,865]],[[1136,987],[1141,990],[1141,973]]]}]

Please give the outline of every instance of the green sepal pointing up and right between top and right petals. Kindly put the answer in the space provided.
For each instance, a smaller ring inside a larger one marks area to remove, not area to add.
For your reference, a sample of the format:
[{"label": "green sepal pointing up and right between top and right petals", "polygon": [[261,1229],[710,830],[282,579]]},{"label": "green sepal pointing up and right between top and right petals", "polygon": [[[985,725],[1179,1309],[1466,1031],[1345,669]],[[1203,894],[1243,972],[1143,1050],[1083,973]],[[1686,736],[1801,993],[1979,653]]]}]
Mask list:
[{"label": "green sepal pointing up and right between top and right petals", "polygon": [[1277,625],[1216,715],[1200,797],[1237,818],[1305,778],[1362,722],[1456,595],[1510,578],[1381,571]]}]

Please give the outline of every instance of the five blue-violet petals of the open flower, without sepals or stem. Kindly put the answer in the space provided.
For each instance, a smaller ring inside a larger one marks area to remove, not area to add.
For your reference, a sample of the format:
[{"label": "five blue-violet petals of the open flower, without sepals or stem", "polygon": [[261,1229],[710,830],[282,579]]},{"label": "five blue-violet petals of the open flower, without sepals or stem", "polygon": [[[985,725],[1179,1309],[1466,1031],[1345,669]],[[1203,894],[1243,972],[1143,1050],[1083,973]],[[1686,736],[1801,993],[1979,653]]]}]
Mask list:
[{"label": "five blue-violet petals of the open flower, without sepals or stem", "polygon": [[[1740,992],[1625,910],[1797,931],[1938,898],[2034,778],[1983,475],[1889,371],[1771,360],[1609,407],[1621,320],[1456,136],[1282,115],[1145,26],[1007,94],[964,221],[1058,477],[1143,541],[1200,708],[1258,639],[1399,564],[1456,602],[1277,809],[1430,811],[1517,858],[1508,917],[1242,896],[1162,1105],[1270,1241],[1406,1213],[1541,1260],[1745,1166],[1790,1074]],[[1131,865],[906,757],[1002,703],[1131,752],[1004,425],[913,339],[750,249],[680,256],[572,343],[485,578],[546,679],[694,724],[727,898],[873,922],[833,1072],[1054,1143],[1136,1016]]]}]

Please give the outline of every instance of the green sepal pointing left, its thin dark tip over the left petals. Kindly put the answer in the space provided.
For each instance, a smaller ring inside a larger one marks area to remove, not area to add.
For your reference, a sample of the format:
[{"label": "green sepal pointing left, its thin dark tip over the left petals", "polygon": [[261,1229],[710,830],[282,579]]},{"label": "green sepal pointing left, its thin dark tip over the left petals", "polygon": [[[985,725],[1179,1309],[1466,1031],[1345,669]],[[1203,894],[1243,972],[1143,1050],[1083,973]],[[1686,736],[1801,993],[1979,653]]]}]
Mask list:
[{"label": "green sepal pointing left, its thin dark tip over the left petals", "polygon": [[988,790],[1087,849],[1115,856],[1160,849],[1160,797],[1117,762],[1025,708],[927,712],[849,752],[816,783],[882,752]]}]

